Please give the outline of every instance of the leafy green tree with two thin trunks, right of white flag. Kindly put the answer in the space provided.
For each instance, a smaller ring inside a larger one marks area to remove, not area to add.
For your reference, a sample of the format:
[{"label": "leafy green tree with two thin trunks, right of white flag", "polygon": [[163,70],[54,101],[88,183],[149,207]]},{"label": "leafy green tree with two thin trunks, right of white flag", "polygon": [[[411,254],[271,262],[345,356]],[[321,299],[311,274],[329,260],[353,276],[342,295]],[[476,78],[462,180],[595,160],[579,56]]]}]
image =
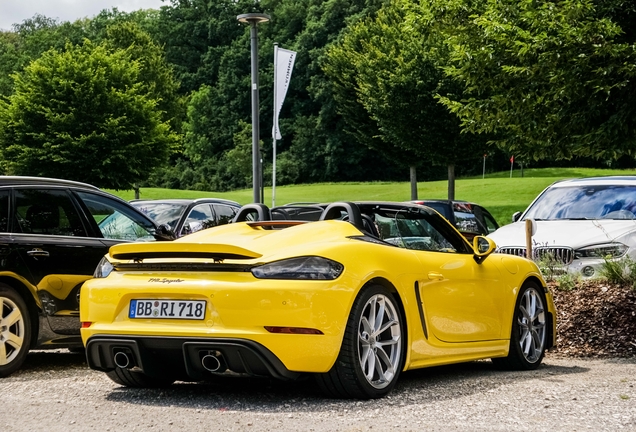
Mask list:
[{"label": "leafy green tree with two thin trunks, right of white flag", "polygon": [[[418,164],[447,166],[448,196],[454,199],[455,165],[481,156],[485,142],[462,134],[457,117],[437,99],[458,88],[443,73],[444,44],[423,13],[411,1],[392,1],[375,19],[349,29],[330,49],[325,70],[340,92],[343,112],[352,114],[346,120],[354,133],[377,133],[381,142],[367,142],[411,166],[412,173]],[[375,127],[368,126],[369,119]],[[412,199],[416,194],[412,175]]]}]

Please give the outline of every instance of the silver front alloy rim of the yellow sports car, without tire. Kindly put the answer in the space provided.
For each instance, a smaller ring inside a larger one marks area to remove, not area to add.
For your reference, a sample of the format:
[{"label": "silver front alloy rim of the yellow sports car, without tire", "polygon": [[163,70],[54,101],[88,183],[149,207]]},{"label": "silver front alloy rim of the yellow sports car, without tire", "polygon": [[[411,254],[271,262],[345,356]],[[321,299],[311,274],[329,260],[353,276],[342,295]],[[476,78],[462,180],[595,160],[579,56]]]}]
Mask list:
[{"label": "silver front alloy rim of the yellow sports car, without tire", "polygon": [[519,344],[529,363],[541,359],[545,347],[545,310],[543,298],[534,288],[523,293],[519,303]]}]

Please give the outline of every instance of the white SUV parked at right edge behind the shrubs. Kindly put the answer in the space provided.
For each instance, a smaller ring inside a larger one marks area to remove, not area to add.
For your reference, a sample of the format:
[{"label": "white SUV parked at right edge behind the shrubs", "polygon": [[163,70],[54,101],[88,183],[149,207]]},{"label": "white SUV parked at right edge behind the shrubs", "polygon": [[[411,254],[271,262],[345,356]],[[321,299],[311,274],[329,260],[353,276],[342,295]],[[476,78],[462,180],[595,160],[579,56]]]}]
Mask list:
[{"label": "white SUV parked at right edge behind the shrubs", "polygon": [[526,256],[525,221],[532,219],[532,258],[589,278],[606,260],[636,259],[635,213],[636,176],[564,180],[548,186],[490,238],[499,252]]}]

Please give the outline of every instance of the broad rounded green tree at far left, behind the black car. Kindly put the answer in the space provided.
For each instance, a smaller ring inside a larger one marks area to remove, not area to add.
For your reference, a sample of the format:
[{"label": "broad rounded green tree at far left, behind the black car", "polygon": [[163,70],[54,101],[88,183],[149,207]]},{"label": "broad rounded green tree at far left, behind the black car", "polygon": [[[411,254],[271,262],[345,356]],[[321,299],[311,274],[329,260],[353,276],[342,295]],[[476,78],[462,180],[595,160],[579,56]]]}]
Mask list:
[{"label": "broad rounded green tree at far left, behind the black car", "polygon": [[164,163],[175,141],[126,50],[86,41],[50,50],[14,75],[0,106],[6,173],[130,189]]}]

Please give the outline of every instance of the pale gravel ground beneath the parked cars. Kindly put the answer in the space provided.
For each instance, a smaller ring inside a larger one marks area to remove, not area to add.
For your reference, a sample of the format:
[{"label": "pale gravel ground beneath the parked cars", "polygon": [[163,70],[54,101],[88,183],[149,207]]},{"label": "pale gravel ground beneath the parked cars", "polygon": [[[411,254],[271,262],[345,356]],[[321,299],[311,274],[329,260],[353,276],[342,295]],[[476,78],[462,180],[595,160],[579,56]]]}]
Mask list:
[{"label": "pale gravel ground beneath the parked cars", "polygon": [[636,359],[548,354],[531,372],[489,361],[411,371],[386,398],[325,399],[312,381],[233,378],[128,389],[84,357],[35,351],[0,381],[0,431],[636,430]]}]

